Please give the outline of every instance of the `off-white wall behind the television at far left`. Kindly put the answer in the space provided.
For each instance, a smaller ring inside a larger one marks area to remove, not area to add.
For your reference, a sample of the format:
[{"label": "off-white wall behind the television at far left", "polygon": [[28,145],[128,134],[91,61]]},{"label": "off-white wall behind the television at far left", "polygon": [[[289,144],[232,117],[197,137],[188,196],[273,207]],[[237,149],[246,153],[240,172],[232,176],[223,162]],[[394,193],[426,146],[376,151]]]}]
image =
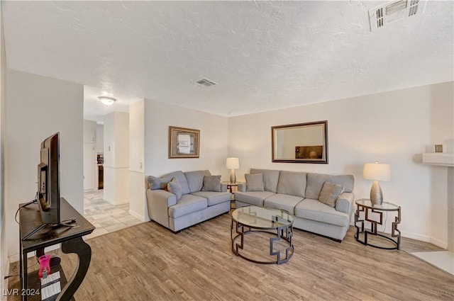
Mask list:
[{"label": "off-white wall behind the television at far left", "polygon": [[60,195],[83,212],[82,116],[80,84],[6,69],[6,227],[8,254],[18,254],[19,203],[35,198],[40,143],[60,132]]}]

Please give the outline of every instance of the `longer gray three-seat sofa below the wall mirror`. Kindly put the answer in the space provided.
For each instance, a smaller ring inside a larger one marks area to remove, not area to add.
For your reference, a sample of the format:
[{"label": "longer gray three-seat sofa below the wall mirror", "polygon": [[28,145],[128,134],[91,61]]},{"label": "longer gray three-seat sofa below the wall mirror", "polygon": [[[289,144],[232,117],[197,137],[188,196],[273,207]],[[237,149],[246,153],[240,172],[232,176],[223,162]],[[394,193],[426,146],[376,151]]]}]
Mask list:
[{"label": "longer gray three-seat sofa below the wall mirror", "polygon": [[295,228],[339,242],[345,237],[353,212],[352,175],[250,169],[245,178],[246,183],[238,183],[235,193],[237,208],[257,205],[284,209],[294,217]]}]

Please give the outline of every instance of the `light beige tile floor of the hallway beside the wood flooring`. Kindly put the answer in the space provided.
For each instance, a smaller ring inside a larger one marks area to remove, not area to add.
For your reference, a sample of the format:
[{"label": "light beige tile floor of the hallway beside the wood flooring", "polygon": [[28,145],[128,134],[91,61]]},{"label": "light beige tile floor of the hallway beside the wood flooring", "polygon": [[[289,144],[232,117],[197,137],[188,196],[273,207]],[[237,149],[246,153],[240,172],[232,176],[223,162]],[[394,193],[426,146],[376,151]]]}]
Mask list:
[{"label": "light beige tile floor of the hallway beside the wood flooring", "polygon": [[94,232],[87,235],[85,239],[98,237],[143,222],[129,214],[129,204],[112,205],[103,200],[102,195],[102,190],[84,193],[84,217],[96,227]]}]

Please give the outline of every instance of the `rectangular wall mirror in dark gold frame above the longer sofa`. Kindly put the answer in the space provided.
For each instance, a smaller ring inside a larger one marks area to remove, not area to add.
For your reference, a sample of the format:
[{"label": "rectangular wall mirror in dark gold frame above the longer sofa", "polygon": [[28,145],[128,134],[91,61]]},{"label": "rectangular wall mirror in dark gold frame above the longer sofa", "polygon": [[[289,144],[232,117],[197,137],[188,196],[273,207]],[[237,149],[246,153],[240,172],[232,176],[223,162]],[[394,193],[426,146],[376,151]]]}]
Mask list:
[{"label": "rectangular wall mirror in dark gold frame above the longer sofa", "polygon": [[328,164],[328,120],[271,127],[272,161]]}]

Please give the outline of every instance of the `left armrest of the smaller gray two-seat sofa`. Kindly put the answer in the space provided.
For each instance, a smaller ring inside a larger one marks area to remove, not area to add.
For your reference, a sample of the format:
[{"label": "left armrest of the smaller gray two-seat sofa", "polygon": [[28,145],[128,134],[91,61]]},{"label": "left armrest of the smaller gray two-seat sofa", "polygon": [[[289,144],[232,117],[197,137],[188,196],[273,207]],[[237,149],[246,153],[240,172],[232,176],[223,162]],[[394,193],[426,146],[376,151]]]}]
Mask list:
[{"label": "left armrest of the smaller gray two-seat sofa", "polygon": [[147,189],[148,215],[165,227],[169,226],[169,207],[177,203],[177,196],[162,189]]}]

